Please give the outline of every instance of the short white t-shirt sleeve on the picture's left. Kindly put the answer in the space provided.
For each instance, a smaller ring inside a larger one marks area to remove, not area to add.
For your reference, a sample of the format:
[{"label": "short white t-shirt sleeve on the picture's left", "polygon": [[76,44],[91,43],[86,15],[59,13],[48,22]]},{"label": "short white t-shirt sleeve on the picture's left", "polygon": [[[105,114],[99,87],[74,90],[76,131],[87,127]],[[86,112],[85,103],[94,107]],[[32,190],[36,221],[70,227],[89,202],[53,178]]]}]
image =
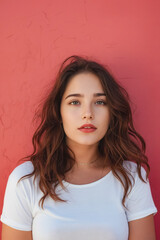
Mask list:
[{"label": "short white t-shirt sleeve on the picture's left", "polygon": [[13,171],[7,182],[1,221],[17,230],[32,229],[32,199],[29,181],[24,178],[19,183],[19,177]]}]

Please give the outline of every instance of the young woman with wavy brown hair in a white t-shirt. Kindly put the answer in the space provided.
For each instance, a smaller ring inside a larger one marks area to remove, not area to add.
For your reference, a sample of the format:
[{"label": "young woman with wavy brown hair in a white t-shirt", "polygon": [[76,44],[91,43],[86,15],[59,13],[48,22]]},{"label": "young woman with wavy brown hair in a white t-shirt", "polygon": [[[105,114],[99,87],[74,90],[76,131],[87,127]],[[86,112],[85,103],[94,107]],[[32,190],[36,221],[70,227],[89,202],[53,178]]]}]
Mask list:
[{"label": "young woman with wavy brown hair in a white t-shirt", "polygon": [[33,146],[8,179],[2,240],[155,239],[145,141],[102,64],[62,63]]}]

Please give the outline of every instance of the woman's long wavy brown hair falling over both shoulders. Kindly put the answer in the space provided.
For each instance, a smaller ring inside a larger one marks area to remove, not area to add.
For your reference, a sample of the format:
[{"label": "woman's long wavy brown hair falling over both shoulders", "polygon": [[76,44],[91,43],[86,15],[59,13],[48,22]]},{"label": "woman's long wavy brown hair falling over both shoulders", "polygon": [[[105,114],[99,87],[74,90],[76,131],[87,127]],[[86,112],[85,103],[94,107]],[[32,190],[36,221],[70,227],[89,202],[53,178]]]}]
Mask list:
[{"label": "woman's long wavy brown hair falling over both shoulders", "polygon": [[[124,187],[123,206],[125,206],[127,194],[133,187],[129,177],[131,174],[124,168],[123,162],[126,160],[135,162],[138,175],[144,182],[141,166],[146,168],[146,179],[150,171],[148,158],[145,155],[145,141],[133,125],[130,98],[127,91],[109,73],[105,65],[86,57],[70,56],[62,63],[54,85],[43,101],[42,109],[39,109],[35,114],[34,120],[40,119],[40,124],[32,138],[34,151],[21,159],[31,161],[34,166],[33,172],[22,178],[34,175],[35,180],[37,176],[40,177],[39,188],[44,194],[39,201],[42,208],[48,195],[54,201],[66,202],[58,196],[56,187],[60,184],[65,189],[62,180],[65,179],[66,172],[72,169],[75,155],[66,145],[61,123],[60,104],[68,81],[74,75],[82,72],[95,74],[107,96],[111,118],[105,136],[99,141],[98,150],[99,154],[103,156],[104,166],[107,166],[108,161],[110,162],[113,174]],[[70,151],[74,157],[71,156]]]}]

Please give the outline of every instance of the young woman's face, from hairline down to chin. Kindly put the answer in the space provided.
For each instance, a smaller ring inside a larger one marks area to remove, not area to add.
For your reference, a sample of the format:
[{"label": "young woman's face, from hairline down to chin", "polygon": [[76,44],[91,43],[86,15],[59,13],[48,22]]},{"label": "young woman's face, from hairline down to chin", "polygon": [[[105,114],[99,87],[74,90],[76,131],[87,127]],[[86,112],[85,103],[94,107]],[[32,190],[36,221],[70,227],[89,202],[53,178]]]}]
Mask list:
[{"label": "young woman's face, from hairline down to chin", "polygon": [[[103,95],[96,95],[98,93]],[[93,73],[79,73],[72,77],[63,94],[60,113],[69,146],[97,144],[107,132],[110,121],[107,98],[99,78]],[[79,130],[83,124],[93,124],[96,130]]]}]

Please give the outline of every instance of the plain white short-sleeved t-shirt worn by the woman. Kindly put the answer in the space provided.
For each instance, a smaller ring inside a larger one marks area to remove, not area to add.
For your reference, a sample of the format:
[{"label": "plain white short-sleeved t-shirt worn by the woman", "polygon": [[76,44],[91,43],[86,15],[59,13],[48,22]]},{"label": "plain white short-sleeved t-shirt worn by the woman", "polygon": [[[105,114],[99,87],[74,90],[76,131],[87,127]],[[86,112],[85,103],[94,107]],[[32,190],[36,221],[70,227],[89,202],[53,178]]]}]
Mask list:
[{"label": "plain white short-sleeved t-shirt worn by the woman", "polygon": [[[33,170],[30,161],[16,167],[9,176],[1,221],[8,226],[32,231],[33,240],[127,240],[128,222],[157,212],[149,182],[138,177],[136,164],[126,161],[135,185],[126,199],[126,210],[121,201],[123,187],[110,171],[101,179],[82,185],[63,181],[56,193],[68,202],[44,201],[44,210],[38,202],[43,193],[33,178],[18,180]],[[145,170],[142,168],[142,176]]]}]

